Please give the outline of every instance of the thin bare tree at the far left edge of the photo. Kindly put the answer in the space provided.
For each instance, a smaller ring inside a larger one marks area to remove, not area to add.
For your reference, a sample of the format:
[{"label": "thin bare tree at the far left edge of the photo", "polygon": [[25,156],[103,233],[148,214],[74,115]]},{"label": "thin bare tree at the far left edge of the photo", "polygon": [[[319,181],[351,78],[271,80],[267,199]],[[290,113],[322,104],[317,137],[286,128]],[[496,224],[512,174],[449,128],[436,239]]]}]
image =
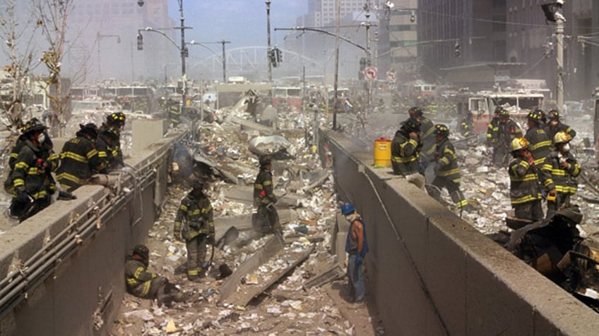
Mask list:
[{"label": "thin bare tree at the far left edge of the photo", "polygon": [[[23,101],[29,92],[30,73],[39,63],[35,60],[35,32],[39,25],[35,16],[22,20],[16,14],[16,0],[2,0],[4,11],[0,13],[0,39],[6,43],[4,54],[10,61],[4,73],[11,80],[10,100],[1,101],[6,127],[18,129],[23,123]],[[23,5],[21,5],[23,6]]]}]

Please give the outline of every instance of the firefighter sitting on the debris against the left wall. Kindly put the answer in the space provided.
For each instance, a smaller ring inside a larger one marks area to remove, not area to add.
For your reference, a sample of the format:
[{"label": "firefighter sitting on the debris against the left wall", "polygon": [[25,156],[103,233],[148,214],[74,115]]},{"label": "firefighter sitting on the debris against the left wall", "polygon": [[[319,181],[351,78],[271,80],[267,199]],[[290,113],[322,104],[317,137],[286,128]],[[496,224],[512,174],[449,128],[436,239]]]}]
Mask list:
[{"label": "firefighter sitting on the debris against the left wall", "polygon": [[185,301],[184,292],[179,291],[167,278],[148,271],[149,263],[148,247],[136,245],[125,263],[127,292],[142,299],[157,299],[159,305],[170,306],[172,301]]}]

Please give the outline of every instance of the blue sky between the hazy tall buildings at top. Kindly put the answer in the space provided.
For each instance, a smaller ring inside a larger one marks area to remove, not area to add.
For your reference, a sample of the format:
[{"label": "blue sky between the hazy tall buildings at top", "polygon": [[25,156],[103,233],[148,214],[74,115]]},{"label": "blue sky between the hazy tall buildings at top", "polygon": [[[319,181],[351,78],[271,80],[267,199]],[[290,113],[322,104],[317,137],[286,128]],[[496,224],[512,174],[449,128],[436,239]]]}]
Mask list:
[{"label": "blue sky between the hazy tall buildings at top", "polygon": [[[299,15],[308,11],[307,0],[271,0],[271,44],[283,44],[285,32],[277,27],[294,27]],[[186,40],[230,41],[227,49],[266,46],[266,1],[263,0],[183,0]],[[169,0],[169,13],[179,23],[179,4]],[[219,46],[215,45],[218,50]],[[205,51],[210,54],[210,51]]]}]

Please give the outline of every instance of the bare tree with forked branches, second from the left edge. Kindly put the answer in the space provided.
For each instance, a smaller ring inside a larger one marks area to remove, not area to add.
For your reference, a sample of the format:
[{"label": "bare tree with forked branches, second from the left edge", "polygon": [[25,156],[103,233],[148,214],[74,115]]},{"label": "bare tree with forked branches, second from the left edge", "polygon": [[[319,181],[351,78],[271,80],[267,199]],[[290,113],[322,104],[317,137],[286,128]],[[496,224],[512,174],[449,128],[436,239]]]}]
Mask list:
[{"label": "bare tree with forked branches, second from the left edge", "polygon": [[65,54],[67,19],[73,11],[74,0],[31,0],[42,28],[42,35],[48,43],[47,51],[42,51],[42,62],[49,71],[46,92],[52,101],[52,132],[62,136],[69,111],[69,95],[65,94],[61,78],[61,64]]}]

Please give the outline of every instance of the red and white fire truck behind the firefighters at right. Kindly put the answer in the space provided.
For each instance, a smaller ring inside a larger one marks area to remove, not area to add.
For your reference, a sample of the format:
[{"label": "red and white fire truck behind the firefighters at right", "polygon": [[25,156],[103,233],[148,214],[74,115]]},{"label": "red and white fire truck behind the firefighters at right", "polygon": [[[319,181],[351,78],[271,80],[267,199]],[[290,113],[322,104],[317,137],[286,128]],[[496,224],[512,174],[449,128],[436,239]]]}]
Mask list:
[{"label": "red and white fire truck behind the firefighters at right", "polygon": [[528,112],[542,108],[545,96],[535,92],[477,92],[468,98],[468,111],[473,115],[476,133],[487,132],[497,106],[509,111],[520,125],[526,124]]}]

